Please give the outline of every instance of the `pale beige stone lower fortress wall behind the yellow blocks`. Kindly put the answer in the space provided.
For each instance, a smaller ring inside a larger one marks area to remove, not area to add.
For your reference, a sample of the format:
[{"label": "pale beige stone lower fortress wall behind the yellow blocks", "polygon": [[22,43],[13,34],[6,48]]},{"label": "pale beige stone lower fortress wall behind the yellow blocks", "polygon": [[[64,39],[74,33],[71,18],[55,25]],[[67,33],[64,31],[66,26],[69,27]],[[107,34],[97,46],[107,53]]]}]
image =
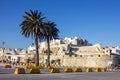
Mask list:
[{"label": "pale beige stone lower fortress wall behind the yellow blocks", "polygon": [[86,67],[103,67],[108,66],[108,62],[112,61],[109,55],[101,55],[101,56],[65,56],[63,58],[64,66],[86,66]]}]

